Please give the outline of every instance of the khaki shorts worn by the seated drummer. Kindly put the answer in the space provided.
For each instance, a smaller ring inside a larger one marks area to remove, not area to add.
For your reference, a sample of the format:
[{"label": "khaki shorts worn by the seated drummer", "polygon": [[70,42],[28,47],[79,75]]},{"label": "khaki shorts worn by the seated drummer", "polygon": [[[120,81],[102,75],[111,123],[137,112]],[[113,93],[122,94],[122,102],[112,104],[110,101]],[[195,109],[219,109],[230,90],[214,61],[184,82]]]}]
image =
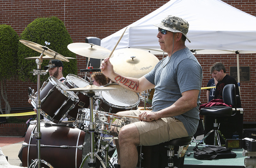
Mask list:
[{"label": "khaki shorts worn by the seated drummer", "polygon": [[[143,110],[125,111],[127,115],[138,116]],[[121,112],[122,113],[122,112]],[[118,113],[117,113],[118,114]],[[188,133],[183,123],[174,117],[161,118],[159,120],[147,122],[130,118],[140,133],[140,146],[152,146],[172,139],[187,137]]]}]

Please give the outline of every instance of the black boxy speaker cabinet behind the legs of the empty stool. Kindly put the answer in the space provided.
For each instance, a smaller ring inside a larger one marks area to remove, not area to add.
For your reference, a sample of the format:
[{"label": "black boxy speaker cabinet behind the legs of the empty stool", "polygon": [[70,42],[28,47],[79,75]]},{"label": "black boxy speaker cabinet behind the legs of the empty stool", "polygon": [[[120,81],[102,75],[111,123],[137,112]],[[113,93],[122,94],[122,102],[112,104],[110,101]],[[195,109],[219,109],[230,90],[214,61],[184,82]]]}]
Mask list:
[{"label": "black boxy speaker cabinet behind the legs of the empty stool", "polygon": [[[240,113],[242,112],[242,113]],[[238,134],[239,138],[243,138],[243,111],[237,111],[234,116],[216,117],[217,123],[220,123],[219,130],[226,139],[232,139],[234,134]],[[204,116],[204,136],[213,129],[214,117]],[[225,141],[220,137],[221,144]],[[214,144],[214,133],[212,132],[205,140],[205,144]]]}]

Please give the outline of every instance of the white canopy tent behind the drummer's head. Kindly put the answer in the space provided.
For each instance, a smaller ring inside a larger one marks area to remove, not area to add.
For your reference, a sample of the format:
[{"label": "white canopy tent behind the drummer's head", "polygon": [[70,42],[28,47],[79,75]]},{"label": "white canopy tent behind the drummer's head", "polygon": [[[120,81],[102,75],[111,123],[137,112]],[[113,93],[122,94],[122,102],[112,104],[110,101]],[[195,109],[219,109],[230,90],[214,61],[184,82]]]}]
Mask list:
[{"label": "white canopy tent behind the drummer's head", "polygon": [[[140,48],[162,54],[154,23],[167,15],[189,22],[186,46],[197,54],[256,53],[256,17],[221,0],[171,0],[159,9],[127,26],[116,49]],[[101,40],[101,46],[112,50],[125,28]],[[237,61],[239,70],[239,59]],[[238,73],[238,83],[240,83]]]}]

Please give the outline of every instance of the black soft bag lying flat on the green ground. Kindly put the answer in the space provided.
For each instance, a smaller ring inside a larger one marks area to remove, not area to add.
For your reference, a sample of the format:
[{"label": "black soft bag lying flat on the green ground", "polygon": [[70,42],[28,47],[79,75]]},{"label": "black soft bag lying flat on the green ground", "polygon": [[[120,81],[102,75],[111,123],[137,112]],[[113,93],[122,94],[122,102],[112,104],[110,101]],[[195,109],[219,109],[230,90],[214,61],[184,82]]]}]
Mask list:
[{"label": "black soft bag lying flat on the green ground", "polygon": [[197,149],[196,151],[194,151],[193,156],[196,159],[212,160],[223,158],[235,158],[236,153],[222,146],[207,146],[203,147],[202,150]]}]

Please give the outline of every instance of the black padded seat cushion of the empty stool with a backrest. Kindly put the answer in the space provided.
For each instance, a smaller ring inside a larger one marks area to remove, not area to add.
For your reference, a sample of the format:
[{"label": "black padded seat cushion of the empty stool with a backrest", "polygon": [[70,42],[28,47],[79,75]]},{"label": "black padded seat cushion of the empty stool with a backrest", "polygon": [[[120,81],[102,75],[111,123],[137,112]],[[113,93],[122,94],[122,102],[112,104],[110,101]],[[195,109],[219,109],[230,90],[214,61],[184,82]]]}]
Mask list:
[{"label": "black padded seat cushion of the empty stool with a backrest", "polygon": [[204,107],[200,110],[200,115],[209,115],[209,116],[231,116],[233,113],[232,107],[228,106],[212,106]]}]

